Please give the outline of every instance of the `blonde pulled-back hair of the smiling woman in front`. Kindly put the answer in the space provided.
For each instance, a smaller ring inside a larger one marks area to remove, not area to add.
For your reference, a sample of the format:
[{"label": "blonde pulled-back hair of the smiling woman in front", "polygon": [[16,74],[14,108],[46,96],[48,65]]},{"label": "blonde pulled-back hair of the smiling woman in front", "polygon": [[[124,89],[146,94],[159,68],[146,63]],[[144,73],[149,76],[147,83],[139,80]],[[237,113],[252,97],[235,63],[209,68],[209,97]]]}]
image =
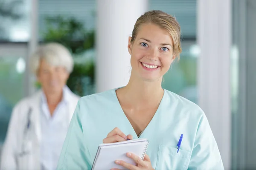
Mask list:
[{"label": "blonde pulled-back hair of the smiling woman in front", "polygon": [[143,24],[154,24],[160,28],[166,30],[173,41],[173,52],[175,56],[180,59],[181,45],[180,45],[180,24],[177,22],[175,17],[158,10],[147,11],[141,15],[132,31],[131,42],[134,42],[140,26]]}]

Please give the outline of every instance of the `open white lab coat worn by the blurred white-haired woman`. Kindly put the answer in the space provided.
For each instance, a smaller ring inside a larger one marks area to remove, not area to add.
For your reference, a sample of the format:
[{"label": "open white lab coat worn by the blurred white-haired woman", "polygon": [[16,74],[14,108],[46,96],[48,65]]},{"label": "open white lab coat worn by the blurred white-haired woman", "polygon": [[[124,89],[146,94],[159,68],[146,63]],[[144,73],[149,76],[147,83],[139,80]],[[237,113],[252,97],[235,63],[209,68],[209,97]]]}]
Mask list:
[{"label": "open white lab coat worn by the blurred white-haired woman", "polygon": [[[0,170],[40,170],[40,99],[42,91],[17,103],[12,111]],[[75,111],[79,96],[67,93],[69,119]],[[29,121],[30,120],[30,121]],[[28,122],[29,128],[28,128]]]}]

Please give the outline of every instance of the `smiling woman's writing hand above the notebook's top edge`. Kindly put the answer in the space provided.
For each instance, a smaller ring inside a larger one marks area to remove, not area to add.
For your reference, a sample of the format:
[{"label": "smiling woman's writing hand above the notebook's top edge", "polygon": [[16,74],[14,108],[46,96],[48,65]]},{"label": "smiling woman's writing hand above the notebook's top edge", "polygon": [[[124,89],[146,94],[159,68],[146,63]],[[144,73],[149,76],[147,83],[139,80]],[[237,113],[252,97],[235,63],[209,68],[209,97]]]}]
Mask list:
[{"label": "smiling woman's writing hand above the notebook's top edge", "polygon": [[108,136],[103,139],[103,143],[122,142],[126,141],[127,139],[131,140],[132,136],[126,136],[125,133],[122,133],[118,127],[115,127],[110,133],[108,133]]}]

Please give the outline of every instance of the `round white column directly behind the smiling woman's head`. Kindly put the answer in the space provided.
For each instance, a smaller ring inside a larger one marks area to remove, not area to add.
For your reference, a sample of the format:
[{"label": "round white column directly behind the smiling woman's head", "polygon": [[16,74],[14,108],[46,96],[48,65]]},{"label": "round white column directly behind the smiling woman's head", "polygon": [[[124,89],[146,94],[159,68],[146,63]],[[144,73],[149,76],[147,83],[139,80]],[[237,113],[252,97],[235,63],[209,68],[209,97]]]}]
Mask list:
[{"label": "round white column directly behind the smiling woman's head", "polygon": [[147,0],[97,0],[96,91],[125,86],[131,65],[128,37]]}]

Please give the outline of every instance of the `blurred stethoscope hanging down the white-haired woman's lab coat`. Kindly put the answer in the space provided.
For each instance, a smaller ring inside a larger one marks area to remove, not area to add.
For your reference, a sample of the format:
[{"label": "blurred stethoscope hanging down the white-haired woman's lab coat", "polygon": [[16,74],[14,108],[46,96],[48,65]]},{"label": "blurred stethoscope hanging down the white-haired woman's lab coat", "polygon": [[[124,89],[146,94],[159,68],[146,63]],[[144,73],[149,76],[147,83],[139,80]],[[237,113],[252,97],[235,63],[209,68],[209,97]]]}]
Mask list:
[{"label": "blurred stethoscope hanging down the white-haired woman's lab coat", "polygon": [[[25,149],[25,142],[29,142],[28,140],[26,140],[25,138],[28,137],[28,131],[29,131],[29,128],[31,126],[31,113],[32,113],[32,108],[29,108],[29,111],[27,113],[27,122],[26,122],[26,126],[24,128],[24,131],[23,131],[23,142],[22,142],[22,151],[21,153],[18,154],[18,156],[23,156],[23,155],[26,155],[28,154],[30,151],[29,150],[26,150]],[[25,140],[24,140],[25,139]]]}]

